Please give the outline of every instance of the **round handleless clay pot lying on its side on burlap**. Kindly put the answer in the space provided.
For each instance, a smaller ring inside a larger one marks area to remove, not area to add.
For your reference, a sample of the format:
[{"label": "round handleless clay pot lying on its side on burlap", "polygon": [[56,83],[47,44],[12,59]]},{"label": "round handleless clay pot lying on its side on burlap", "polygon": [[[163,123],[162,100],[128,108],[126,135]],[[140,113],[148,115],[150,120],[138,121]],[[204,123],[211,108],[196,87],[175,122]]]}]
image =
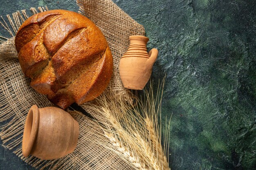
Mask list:
[{"label": "round handleless clay pot lying on its side on burlap", "polygon": [[79,124],[64,110],[33,105],[26,118],[22,139],[24,157],[61,158],[76,148]]}]

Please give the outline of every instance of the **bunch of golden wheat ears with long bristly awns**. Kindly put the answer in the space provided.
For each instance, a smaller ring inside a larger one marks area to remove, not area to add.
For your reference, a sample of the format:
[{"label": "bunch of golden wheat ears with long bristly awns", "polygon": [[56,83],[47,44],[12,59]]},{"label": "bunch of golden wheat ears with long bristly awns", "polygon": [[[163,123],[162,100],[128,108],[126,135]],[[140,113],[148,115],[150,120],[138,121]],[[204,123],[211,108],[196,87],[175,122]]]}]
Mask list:
[{"label": "bunch of golden wheat ears with long bristly awns", "polygon": [[157,117],[161,116],[161,105],[157,102],[161,103],[161,99],[155,99],[153,88],[150,88],[145,92],[146,100],[137,99],[138,105],[132,107],[124,102],[122,95],[116,94],[110,86],[108,94],[96,99],[97,105],[85,106],[101,115],[99,124],[107,140],[96,142],[137,170],[170,170],[165,155],[167,146],[163,150],[157,122]]}]

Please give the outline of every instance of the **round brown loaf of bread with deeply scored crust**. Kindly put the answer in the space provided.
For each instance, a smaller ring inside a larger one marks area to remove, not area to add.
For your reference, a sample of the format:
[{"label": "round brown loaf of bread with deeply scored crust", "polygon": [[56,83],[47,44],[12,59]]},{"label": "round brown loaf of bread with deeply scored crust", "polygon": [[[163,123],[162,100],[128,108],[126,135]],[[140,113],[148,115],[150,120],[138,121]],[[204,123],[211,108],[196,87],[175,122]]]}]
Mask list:
[{"label": "round brown loaf of bread with deeply scored crust", "polygon": [[98,97],[112,75],[112,54],[99,28],[85,16],[51,10],[28,18],[15,39],[31,87],[65,109]]}]

